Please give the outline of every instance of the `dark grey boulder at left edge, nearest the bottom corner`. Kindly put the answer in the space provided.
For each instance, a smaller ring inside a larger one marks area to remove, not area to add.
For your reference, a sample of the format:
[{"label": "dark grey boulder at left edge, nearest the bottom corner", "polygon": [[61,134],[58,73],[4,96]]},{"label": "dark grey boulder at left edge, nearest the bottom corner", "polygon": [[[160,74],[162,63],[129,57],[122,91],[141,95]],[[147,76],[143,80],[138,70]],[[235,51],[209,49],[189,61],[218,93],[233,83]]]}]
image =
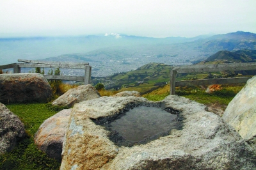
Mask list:
[{"label": "dark grey boulder at left edge, nearest the bottom corner", "polygon": [[24,136],[24,124],[19,117],[0,103],[0,154],[11,151]]}]

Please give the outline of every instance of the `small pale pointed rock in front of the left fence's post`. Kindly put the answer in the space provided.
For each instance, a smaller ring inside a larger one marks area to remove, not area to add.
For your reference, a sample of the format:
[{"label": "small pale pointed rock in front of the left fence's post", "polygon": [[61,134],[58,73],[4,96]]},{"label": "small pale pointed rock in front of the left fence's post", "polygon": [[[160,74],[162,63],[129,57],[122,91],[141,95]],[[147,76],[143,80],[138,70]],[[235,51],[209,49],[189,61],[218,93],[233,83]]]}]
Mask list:
[{"label": "small pale pointed rock in front of the left fence's post", "polygon": [[74,89],[68,89],[65,94],[54,100],[52,105],[72,107],[76,103],[99,97],[98,91],[92,85],[82,85]]}]

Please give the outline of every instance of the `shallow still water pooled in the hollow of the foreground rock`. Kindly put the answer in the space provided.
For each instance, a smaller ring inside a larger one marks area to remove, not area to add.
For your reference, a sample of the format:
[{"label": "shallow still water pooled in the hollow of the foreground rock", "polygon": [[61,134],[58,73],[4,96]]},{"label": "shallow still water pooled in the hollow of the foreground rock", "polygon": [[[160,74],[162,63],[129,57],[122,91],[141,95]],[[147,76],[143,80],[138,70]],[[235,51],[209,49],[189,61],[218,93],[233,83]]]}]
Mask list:
[{"label": "shallow still water pooled in the hollow of the foreground rock", "polygon": [[110,127],[127,141],[140,142],[175,128],[177,114],[170,114],[157,107],[140,106],[112,121]]}]

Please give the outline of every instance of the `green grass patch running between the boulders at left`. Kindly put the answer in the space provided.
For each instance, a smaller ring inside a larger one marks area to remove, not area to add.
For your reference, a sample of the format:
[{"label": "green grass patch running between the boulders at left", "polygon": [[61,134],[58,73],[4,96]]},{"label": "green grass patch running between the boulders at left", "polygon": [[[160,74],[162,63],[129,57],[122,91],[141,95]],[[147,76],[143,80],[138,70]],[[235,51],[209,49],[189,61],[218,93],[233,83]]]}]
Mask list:
[{"label": "green grass patch running between the boulders at left", "polygon": [[0,169],[60,169],[60,163],[38,150],[33,136],[47,118],[56,114],[56,108],[47,104],[8,104],[10,111],[25,125],[26,137],[10,153],[0,156]]}]

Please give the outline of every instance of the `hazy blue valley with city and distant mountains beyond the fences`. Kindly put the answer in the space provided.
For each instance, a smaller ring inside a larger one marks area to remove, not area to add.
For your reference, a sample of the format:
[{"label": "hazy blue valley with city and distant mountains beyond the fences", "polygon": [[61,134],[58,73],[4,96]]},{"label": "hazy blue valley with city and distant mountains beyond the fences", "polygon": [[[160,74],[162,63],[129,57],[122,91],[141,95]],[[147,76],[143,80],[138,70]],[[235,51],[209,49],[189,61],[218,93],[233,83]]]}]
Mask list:
[{"label": "hazy blue valley with city and distant mountains beyond the fences", "polygon": [[194,38],[149,38],[128,35],[0,38],[0,65],[17,59],[89,62],[102,77],[136,70],[147,63],[191,65],[220,50],[256,50],[256,34],[243,31]]}]

